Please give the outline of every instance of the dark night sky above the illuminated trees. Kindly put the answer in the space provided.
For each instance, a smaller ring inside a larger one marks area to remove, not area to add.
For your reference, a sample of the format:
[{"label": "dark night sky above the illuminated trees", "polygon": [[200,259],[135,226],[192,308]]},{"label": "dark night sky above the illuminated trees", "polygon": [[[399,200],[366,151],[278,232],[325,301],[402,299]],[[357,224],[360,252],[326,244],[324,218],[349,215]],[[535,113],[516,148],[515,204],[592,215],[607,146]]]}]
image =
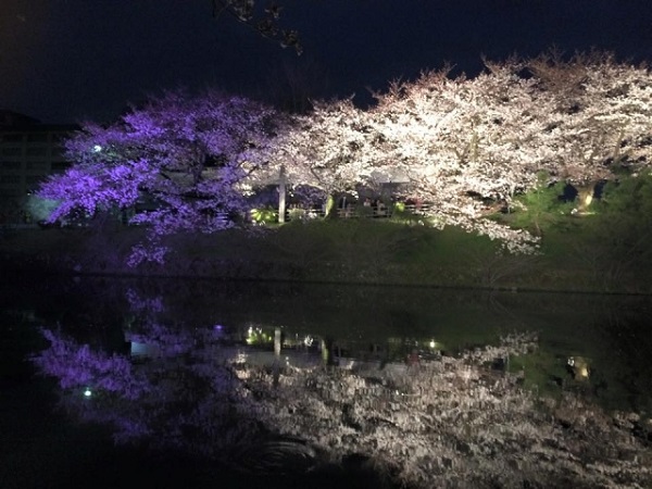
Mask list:
[{"label": "dark night sky above the illuminated trees", "polygon": [[446,61],[474,73],[481,54],[553,45],[652,61],[652,0],[279,1],[301,32],[300,58],[214,20],[211,0],[2,0],[0,109],[50,123],[110,121],[161,89],[274,91],[288,66],[315,95],[364,101],[367,87]]}]

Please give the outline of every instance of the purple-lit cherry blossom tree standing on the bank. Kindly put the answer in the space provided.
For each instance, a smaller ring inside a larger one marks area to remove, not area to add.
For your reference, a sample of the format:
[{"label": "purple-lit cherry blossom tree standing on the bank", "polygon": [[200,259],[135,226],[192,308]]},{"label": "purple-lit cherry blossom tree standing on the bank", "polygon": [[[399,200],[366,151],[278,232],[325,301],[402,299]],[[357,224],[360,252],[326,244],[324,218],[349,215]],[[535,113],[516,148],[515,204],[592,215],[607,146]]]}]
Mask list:
[{"label": "purple-lit cherry blossom tree standing on the bank", "polygon": [[241,181],[265,162],[273,115],[264,105],[218,91],[197,97],[176,91],[109,127],[86,124],[66,142],[76,164],[39,191],[59,202],[49,220],[124,211],[147,197],[154,209],[130,221],[151,226],[152,236],[228,227],[229,217],[246,210]]}]

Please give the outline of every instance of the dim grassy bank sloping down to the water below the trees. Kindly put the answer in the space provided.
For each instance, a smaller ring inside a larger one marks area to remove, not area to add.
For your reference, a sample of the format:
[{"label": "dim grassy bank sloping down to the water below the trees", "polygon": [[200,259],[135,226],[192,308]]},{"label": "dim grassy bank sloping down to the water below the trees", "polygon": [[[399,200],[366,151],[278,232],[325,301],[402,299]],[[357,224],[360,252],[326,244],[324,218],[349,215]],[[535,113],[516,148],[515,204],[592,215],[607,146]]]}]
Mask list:
[{"label": "dim grassy bank sloping down to the water below the trees", "polygon": [[[392,221],[292,222],[167,237],[164,265],[128,267],[145,230],[115,225],[14,230],[0,240],[5,265],[54,272],[198,276],[405,286],[650,293],[645,256],[601,237],[588,221],[551,227],[535,255],[455,227]],[[615,242],[613,242],[615,241]]]}]

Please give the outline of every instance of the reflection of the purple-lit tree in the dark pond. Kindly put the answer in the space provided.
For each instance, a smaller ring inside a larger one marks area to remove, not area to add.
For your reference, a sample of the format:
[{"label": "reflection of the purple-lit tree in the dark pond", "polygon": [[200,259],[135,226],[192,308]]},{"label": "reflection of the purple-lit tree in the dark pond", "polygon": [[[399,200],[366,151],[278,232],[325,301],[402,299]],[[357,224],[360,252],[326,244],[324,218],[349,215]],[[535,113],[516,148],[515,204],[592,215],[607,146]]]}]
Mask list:
[{"label": "reflection of the purple-lit tree in the dark pond", "polygon": [[117,442],[220,456],[258,434],[246,390],[218,350],[201,348],[201,338],[152,326],[137,339],[155,346],[156,358],[136,364],[43,334],[50,348],[34,361],[59,379],[62,405],[82,421],[112,425]]}]

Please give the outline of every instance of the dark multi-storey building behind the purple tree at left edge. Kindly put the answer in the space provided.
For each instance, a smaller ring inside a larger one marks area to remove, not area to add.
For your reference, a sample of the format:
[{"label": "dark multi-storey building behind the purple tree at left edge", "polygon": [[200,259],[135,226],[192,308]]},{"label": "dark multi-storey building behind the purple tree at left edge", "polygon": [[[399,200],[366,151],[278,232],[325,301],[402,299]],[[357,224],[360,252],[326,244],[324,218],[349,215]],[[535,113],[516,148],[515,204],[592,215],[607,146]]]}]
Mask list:
[{"label": "dark multi-storey building behind the purple tree at left edge", "polygon": [[25,224],[27,196],[51,174],[71,164],[62,141],[79,127],[41,124],[27,115],[0,110],[0,225]]}]

